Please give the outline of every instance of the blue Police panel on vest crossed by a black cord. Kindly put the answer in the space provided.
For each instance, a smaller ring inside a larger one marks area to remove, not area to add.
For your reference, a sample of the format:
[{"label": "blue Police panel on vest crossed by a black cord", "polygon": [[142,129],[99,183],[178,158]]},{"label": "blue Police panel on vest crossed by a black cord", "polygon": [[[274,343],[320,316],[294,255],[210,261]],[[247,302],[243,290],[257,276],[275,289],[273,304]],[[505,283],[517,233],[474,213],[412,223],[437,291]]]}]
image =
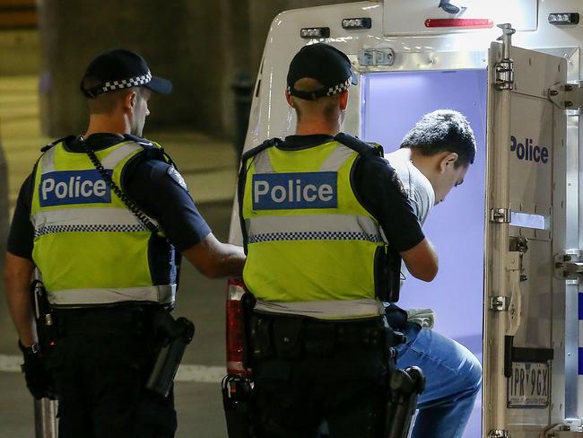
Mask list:
[{"label": "blue Police panel on vest crossed by a black cord", "polygon": [[110,204],[111,188],[98,171],[53,171],[40,179],[39,201],[40,206]]}]

